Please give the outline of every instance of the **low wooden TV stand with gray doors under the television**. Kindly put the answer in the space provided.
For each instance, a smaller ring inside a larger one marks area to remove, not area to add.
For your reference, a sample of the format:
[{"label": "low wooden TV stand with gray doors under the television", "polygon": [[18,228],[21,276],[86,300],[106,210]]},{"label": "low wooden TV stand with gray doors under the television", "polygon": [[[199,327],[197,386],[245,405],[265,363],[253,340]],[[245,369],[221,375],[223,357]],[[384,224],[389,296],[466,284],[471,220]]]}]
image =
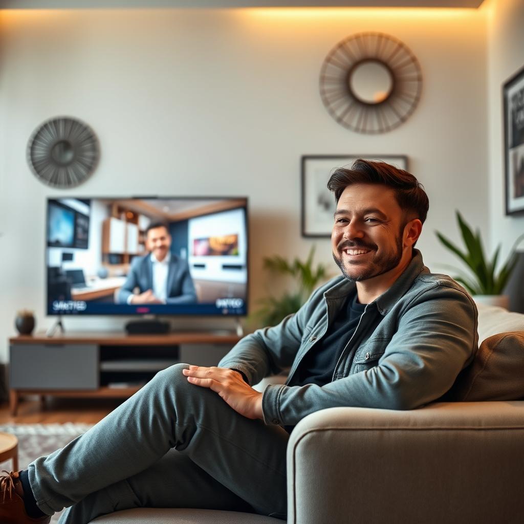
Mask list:
[{"label": "low wooden TV stand with gray doors under the television", "polygon": [[10,412],[16,416],[23,395],[128,398],[158,371],[180,362],[179,345],[231,348],[240,339],[236,334],[209,332],[62,331],[52,338],[43,332],[15,336],[9,339]]}]

